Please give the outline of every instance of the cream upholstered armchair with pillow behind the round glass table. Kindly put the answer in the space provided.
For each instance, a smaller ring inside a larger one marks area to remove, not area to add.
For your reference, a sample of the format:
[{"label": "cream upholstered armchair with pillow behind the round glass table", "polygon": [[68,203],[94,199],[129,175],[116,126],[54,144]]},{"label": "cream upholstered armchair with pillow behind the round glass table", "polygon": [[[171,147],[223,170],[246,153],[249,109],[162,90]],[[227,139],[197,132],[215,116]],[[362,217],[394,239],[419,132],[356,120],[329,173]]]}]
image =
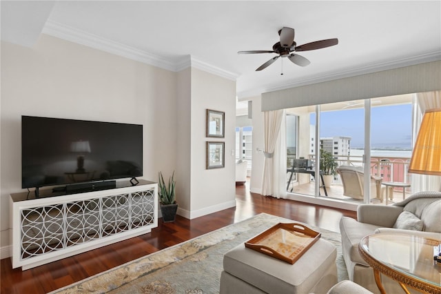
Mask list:
[{"label": "cream upholstered armchair with pillow behind the round glass table", "polygon": [[[342,217],[340,219],[342,255],[349,280],[373,293],[379,293],[372,268],[358,253],[361,239],[366,235],[382,232],[441,239],[440,215],[441,192],[420,192],[392,206],[361,204],[357,209],[358,220]],[[388,277],[382,277],[382,284],[387,293],[402,291],[400,285]]]}]

